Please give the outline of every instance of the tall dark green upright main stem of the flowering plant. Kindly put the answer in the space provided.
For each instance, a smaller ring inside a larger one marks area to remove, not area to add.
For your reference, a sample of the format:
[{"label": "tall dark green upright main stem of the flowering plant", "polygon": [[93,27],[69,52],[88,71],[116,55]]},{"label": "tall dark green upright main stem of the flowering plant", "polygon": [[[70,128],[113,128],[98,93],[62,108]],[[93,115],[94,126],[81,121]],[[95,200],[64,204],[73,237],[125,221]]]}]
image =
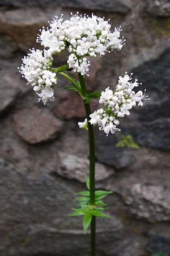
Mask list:
[{"label": "tall dark green upright main stem of the flowering plant", "polygon": [[[83,96],[83,102],[84,102],[84,108],[86,111],[86,117],[87,117],[87,124],[88,124],[88,143],[89,143],[89,156],[90,156],[90,204],[95,205],[95,138],[94,138],[94,127],[91,125],[90,122],[90,104],[86,103],[86,97],[87,97],[87,89],[86,84],[84,81],[84,77],[78,73],[78,78],[80,82],[80,86],[82,89],[82,96]],[[96,230],[96,220],[95,216],[92,216],[91,221],[91,256],[96,255],[95,250],[95,230]]]}]

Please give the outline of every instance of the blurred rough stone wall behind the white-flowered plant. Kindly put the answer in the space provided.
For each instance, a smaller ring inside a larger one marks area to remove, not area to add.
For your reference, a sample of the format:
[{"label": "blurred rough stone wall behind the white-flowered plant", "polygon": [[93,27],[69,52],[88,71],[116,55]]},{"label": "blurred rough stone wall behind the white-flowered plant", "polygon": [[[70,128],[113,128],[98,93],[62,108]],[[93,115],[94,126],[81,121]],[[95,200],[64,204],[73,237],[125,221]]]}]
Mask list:
[{"label": "blurred rough stone wall behind the white-flowered plant", "polygon": [[[91,60],[89,92],[114,89],[133,72],[151,98],[121,120],[121,133],[96,127],[96,188],[110,220],[97,218],[97,256],[170,255],[170,2],[169,0],[1,0],[0,2],[0,255],[88,256],[82,217],[68,217],[75,192],[86,189],[87,131],[82,101],[58,76],[56,97],[44,106],[17,67],[48,20],[70,11],[94,13],[122,26],[120,52]],[[54,67],[66,63],[67,52]],[[97,100],[91,101],[97,108]],[[116,148],[130,134],[138,149]]]}]

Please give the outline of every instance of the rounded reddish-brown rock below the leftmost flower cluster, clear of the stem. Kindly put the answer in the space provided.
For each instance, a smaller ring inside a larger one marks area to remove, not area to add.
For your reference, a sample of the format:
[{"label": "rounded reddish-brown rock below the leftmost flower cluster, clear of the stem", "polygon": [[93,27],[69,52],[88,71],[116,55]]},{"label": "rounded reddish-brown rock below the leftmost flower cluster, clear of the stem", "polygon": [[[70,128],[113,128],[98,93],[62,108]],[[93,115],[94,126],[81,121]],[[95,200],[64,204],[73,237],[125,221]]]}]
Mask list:
[{"label": "rounded reddish-brown rock below the leftmost flower cluster, clear of the stem", "polygon": [[56,138],[62,128],[62,122],[47,109],[41,110],[35,107],[15,113],[13,122],[15,133],[31,144]]}]

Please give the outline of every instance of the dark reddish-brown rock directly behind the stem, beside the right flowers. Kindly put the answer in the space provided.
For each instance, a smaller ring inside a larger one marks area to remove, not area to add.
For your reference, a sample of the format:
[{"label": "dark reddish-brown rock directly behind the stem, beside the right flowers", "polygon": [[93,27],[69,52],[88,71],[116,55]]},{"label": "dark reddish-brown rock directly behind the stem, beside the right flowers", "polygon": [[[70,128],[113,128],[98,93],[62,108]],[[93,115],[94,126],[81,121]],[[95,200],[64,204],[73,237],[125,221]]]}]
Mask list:
[{"label": "dark reddish-brown rock directly behind the stem, beside the right flowers", "polygon": [[[90,102],[91,111],[94,112],[96,100],[91,100]],[[86,117],[82,98],[78,93],[71,90],[68,90],[67,94],[59,98],[57,106],[53,108],[53,113],[63,119]]]}]

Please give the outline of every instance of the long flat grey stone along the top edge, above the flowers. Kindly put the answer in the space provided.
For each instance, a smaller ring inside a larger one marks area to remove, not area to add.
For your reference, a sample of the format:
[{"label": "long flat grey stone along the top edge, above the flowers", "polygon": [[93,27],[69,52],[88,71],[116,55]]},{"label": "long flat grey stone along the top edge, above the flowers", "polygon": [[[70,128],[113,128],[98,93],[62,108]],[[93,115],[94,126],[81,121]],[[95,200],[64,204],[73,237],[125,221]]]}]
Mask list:
[{"label": "long flat grey stone along the top edge, above the flowers", "polygon": [[31,0],[31,1],[24,1],[24,0],[3,0],[1,3],[1,6],[15,6],[15,7],[25,7],[25,6],[38,6],[38,7],[45,7],[45,6],[62,6],[65,8],[76,8],[76,10],[79,9],[85,9],[85,10],[100,10],[100,11],[108,11],[113,13],[122,13],[126,14],[130,10],[129,6],[126,5],[126,3],[120,1],[120,0],[114,0],[114,1],[80,1],[80,0]]}]

